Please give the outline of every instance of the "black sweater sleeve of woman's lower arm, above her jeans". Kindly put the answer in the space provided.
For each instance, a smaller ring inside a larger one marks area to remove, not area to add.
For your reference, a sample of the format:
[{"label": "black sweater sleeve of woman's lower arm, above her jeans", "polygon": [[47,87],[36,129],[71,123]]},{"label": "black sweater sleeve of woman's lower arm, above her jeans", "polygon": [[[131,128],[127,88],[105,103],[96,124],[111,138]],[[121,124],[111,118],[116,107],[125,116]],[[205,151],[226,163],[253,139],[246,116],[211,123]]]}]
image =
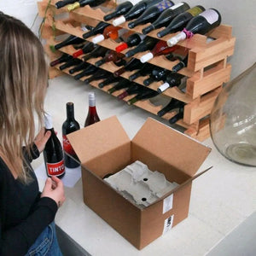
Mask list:
[{"label": "black sweater sleeve of woman's lower arm, above her jeans", "polygon": [[49,197],[41,198],[33,212],[20,224],[3,231],[0,219],[0,255],[25,255],[57,212],[57,204]]}]

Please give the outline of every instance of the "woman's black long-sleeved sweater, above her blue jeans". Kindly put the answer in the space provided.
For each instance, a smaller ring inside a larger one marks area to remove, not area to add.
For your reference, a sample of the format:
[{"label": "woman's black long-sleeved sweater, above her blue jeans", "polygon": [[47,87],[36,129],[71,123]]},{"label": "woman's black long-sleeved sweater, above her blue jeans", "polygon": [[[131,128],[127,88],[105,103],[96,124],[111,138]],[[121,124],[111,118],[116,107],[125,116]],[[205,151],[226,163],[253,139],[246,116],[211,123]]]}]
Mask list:
[{"label": "woman's black long-sleeved sweater, above her blue jeans", "polygon": [[[34,147],[32,157],[38,156]],[[31,161],[27,154],[26,159]],[[37,177],[31,175],[31,183],[21,183],[0,158],[0,255],[25,255],[55,218],[57,204],[40,198]]]}]

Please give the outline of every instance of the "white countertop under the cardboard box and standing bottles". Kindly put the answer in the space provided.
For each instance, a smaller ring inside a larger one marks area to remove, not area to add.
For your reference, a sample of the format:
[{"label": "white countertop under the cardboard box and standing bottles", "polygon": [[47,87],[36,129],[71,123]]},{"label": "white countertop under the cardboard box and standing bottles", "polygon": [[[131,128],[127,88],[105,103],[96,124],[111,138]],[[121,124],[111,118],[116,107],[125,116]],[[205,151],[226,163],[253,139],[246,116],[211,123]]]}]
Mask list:
[{"label": "white countertop under the cardboard box and standing bottles", "polygon": [[[134,137],[148,116],[161,120],[143,109],[129,106],[88,84],[67,75],[49,81],[45,109],[61,138],[66,119],[66,102],[74,102],[75,118],[84,126],[88,111],[88,92],[96,92],[96,108],[101,119],[116,115],[129,137]],[[66,201],[57,212],[55,222],[91,255],[205,255],[228,236],[256,209],[256,168],[240,166],[226,160],[213,146],[212,139],[203,142],[212,152],[201,166],[213,168],[195,179],[192,185],[189,217],[164,236],[139,251],[113,230],[102,218],[84,205],[82,180],[65,188]],[[41,166],[43,155],[33,162]],[[40,188],[44,180],[39,179]]]}]

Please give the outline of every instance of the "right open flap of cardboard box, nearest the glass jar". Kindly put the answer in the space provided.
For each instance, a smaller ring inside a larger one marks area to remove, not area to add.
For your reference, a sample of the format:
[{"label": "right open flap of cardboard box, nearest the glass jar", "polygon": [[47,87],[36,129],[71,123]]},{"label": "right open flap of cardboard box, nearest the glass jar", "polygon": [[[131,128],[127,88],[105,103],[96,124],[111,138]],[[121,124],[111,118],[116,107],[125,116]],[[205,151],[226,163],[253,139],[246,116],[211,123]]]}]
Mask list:
[{"label": "right open flap of cardboard box, nearest the glass jar", "polygon": [[133,143],[146,148],[190,177],[211,152],[211,148],[152,118],[146,120],[132,139]]}]

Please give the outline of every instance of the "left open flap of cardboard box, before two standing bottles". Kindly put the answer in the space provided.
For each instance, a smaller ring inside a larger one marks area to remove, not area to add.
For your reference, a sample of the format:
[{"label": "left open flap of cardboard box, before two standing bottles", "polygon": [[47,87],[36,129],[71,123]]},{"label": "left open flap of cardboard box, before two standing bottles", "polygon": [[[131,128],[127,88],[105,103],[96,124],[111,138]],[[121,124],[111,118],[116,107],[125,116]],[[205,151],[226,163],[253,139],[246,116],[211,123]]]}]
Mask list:
[{"label": "left open flap of cardboard box, before two standing bottles", "polygon": [[74,131],[67,138],[82,164],[130,143],[130,138],[116,116]]}]

